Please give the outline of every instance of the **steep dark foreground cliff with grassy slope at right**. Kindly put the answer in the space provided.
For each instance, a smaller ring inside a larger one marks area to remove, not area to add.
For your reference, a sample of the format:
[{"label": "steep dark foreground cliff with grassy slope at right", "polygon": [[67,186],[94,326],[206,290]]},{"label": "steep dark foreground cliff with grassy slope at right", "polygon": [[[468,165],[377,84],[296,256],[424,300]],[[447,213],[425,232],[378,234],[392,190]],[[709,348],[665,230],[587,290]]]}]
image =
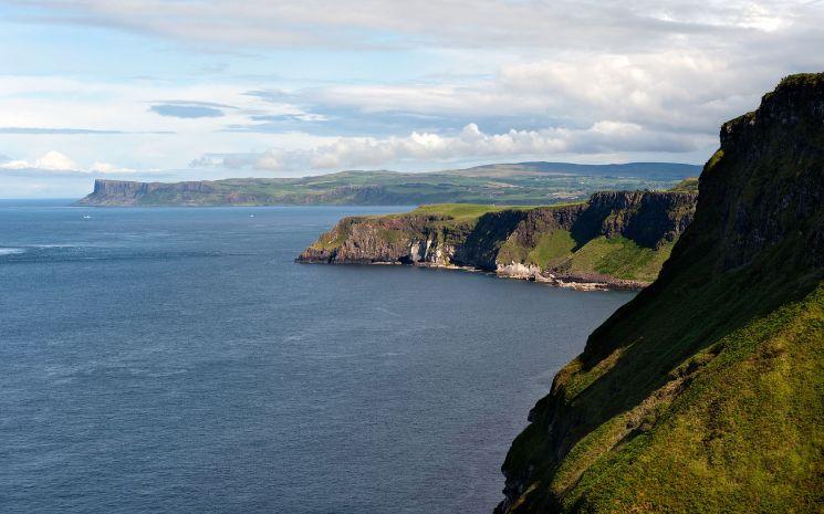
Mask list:
[{"label": "steep dark foreground cliff with grassy slope at right", "polygon": [[659,279],[555,377],[501,513],[821,512],[824,74],[723,125]]}]

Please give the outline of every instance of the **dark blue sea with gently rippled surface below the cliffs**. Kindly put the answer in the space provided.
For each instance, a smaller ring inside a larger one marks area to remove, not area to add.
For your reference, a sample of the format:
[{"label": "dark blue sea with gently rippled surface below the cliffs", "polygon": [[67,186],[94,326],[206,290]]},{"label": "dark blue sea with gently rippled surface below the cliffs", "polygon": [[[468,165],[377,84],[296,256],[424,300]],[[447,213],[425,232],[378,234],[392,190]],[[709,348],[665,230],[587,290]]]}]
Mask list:
[{"label": "dark blue sea with gently rippled surface below the cliffs", "polygon": [[490,513],[529,409],[632,297],[293,263],[398,207],[64,204],[0,202],[3,513]]}]

